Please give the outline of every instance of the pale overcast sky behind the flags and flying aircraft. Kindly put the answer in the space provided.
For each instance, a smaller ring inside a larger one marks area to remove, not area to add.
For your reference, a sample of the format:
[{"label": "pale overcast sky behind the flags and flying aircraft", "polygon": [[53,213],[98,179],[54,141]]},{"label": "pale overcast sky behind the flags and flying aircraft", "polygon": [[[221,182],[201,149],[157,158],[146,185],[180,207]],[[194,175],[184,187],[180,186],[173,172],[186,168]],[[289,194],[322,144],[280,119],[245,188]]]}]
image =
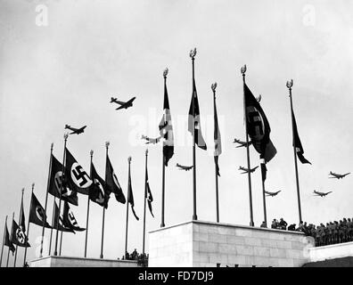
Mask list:
[{"label": "pale overcast sky behind the flags and flying aircraft", "polygon": [[[157,137],[163,107],[163,70],[168,67],[168,96],[175,135],[175,155],[166,168],[165,224],[192,220],[193,174],[176,163],[192,165],[192,136],[187,113],[192,94],[192,62],[197,48],[195,80],[202,134],[208,151],[197,149],[197,215],[216,221],[213,160],[213,95],[218,83],[218,121],[223,153],[219,157],[220,222],[250,223],[246,151],[234,138],[245,139],[242,74],[271,126],[277,154],[267,164],[267,222],[283,217],[298,224],[298,204],[291,146],[290,99],[286,81],[293,79],[293,108],[304,156],[299,162],[303,220],[319,224],[353,217],[352,175],[328,179],[330,171],[353,172],[353,4],[329,1],[107,1],[0,0],[0,231],[12,212],[19,218],[24,187],[26,218],[31,184],[42,205],[53,142],[62,160],[64,126],[84,126],[70,135],[68,149],[89,171],[89,151],[104,177],[105,142],[111,142],[111,163],[127,194],[127,158],[135,211],[129,212],[128,247],[142,251],[144,211],[144,151],[149,150],[149,181],[153,218],[146,229],[160,227],[161,146],[146,145],[142,134]],[[116,111],[111,96],[133,108]],[[259,154],[250,148],[251,167]],[[251,175],[253,216],[263,220],[259,169]],[[325,198],[312,192],[333,191]],[[78,224],[86,226],[86,196],[71,207]],[[48,198],[48,216],[53,197]],[[111,198],[105,215],[104,257],[124,253],[126,205]],[[11,224],[8,222],[8,227]],[[99,257],[102,208],[91,203],[87,256]],[[3,232],[1,233],[3,234]],[[41,227],[29,229],[29,260],[39,252]],[[48,245],[45,231],[45,246]],[[146,251],[148,252],[148,234]],[[63,256],[83,256],[85,232],[64,233]],[[45,248],[47,252],[47,248]],[[21,264],[24,250],[18,255]],[[7,255],[7,249],[4,250]],[[10,264],[13,263],[12,256]],[[4,261],[3,261],[4,262]]]}]

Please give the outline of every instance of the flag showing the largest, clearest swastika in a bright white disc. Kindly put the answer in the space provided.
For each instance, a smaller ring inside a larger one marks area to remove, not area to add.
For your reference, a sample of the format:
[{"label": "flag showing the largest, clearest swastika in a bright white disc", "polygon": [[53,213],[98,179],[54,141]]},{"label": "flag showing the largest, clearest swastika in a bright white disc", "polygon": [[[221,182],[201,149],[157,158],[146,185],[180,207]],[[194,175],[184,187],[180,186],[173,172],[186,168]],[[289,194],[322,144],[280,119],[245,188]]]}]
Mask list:
[{"label": "flag showing the largest, clearest swastika in a bright white disc", "polygon": [[88,195],[92,180],[68,149],[66,149],[65,169],[66,178],[72,187],[71,190]]}]

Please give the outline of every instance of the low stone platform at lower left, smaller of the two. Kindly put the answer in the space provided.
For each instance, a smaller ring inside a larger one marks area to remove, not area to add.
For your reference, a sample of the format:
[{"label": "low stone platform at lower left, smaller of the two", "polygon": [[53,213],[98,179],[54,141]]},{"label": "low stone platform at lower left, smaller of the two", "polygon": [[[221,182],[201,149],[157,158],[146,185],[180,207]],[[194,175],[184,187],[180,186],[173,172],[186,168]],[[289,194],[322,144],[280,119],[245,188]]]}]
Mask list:
[{"label": "low stone platform at lower left, smaller of the two", "polygon": [[32,260],[30,267],[137,267],[135,260],[45,256]]}]

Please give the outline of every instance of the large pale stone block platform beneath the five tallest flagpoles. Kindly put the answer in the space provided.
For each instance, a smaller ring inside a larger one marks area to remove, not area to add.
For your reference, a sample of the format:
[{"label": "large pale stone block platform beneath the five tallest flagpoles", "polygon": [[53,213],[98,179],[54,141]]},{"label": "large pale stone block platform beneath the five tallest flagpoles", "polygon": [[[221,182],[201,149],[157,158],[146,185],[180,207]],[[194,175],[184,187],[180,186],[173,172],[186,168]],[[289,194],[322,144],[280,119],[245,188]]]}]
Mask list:
[{"label": "large pale stone block platform beneath the five tallest flagpoles", "polygon": [[149,232],[149,266],[285,266],[309,262],[302,232],[191,221]]}]

